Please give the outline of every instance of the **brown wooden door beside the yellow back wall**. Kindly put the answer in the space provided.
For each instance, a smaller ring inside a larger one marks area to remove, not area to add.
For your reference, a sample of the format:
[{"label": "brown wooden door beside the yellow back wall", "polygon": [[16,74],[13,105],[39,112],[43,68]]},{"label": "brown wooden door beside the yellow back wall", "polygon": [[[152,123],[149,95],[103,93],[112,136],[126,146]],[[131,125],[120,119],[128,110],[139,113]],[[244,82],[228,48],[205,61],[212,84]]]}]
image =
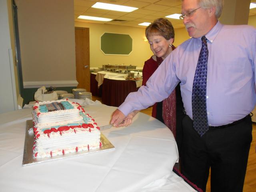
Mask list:
[{"label": "brown wooden door beside the yellow back wall", "polygon": [[75,28],[77,88],[90,91],[90,39],[89,28]]}]

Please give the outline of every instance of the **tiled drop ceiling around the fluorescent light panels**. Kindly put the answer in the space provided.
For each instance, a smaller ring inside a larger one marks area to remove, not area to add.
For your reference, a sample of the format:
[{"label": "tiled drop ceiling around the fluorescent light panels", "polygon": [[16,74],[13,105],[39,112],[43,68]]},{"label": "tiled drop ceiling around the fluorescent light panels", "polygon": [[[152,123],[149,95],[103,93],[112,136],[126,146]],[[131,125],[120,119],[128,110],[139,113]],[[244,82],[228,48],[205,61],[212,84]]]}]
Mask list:
[{"label": "tiled drop ceiling around the fluorescent light panels", "polygon": [[[111,11],[104,9],[91,8],[96,2],[118,4],[124,6],[137,7],[139,9],[127,13],[119,11]],[[256,0],[251,0],[255,2]],[[181,0],[74,0],[74,20],[80,22],[92,22],[100,24],[112,24],[121,26],[141,27],[139,23],[153,22],[155,19],[165,17],[170,14],[179,13],[181,10]],[[256,8],[250,9],[249,15],[255,15]],[[110,22],[92,21],[78,19],[79,15],[87,15],[94,17],[103,17],[113,19]],[[184,27],[182,20],[170,19],[174,28]],[[115,21],[117,20],[117,21]],[[119,20],[119,21],[118,21]]]}]

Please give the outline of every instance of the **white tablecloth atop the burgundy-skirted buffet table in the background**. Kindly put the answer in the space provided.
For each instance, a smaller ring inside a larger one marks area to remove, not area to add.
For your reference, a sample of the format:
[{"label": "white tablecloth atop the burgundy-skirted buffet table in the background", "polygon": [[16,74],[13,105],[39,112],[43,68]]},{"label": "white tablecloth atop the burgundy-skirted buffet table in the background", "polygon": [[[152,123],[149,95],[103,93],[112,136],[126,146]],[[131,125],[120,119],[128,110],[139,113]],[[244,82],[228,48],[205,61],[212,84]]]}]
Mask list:
[{"label": "white tablecloth atop the burgundy-skirted buffet table in the background", "polygon": [[[140,76],[142,76],[142,72],[139,72]],[[96,73],[94,73],[96,74]],[[128,77],[128,74],[118,74],[113,72],[107,72],[107,71],[99,71],[96,74],[96,81],[98,82],[98,87],[102,85],[104,78],[108,79],[114,79],[114,80],[126,80],[126,77]],[[136,81],[136,87],[141,87],[142,80]]]}]

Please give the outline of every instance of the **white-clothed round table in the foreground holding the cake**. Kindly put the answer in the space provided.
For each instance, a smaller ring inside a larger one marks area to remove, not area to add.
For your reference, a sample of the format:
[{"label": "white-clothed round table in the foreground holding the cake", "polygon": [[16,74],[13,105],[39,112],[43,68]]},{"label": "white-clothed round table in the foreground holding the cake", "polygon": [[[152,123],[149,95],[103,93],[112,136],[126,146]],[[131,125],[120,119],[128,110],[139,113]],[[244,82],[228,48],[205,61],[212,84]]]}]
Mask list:
[{"label": "white-clothed round table in the foreground holding the cake", "polygon": [[[116,109],[85,106],[99,126]],[[132,125],[102,131],[114,150],[22,166],[26,120],[31,108],[0,114],[0,186],[4,192],[161,192],[195,191],[172,172],[178,160],[172,132],[139,113]]]}]

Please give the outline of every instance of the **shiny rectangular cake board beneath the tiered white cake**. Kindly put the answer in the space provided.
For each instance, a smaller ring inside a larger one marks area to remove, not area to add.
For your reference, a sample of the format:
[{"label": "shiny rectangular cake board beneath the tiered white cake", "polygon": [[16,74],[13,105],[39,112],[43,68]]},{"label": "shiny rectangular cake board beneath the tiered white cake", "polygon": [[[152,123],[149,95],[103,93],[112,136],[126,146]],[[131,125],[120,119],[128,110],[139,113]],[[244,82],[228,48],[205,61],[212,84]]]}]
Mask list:
[{"label": "shiny rectangular cake board beneath the tiered white cake", "polygon": [[38,164],[38,163],[43,163],[43,162],[50,162],[50,161],[53,161],[53,160],[60,160],[60,159],[74,157],[74,156],[80,156],[80,155],[84,155],[84,154],[92,154],[92,153],[96,153],[96,152],[103,152],[103,151],[107,151],[107,150],[113,150],[115,148],[110,143],[110,141],[101,133],[100,134],[100,141],[102,142],[102,146],[98,149],[91,149],[89,151],[86,150],[86,151],[68,153],[68,154],[64,154],[64,155],[56,155],[56,156],[53,156],[53,157],[34,158],[33,150],[32,150],[33,143],[34,143],[34,133],[33,134],[28,133],[28,130],[32,127],[33,127],[33,121],[32,120],[27,120],[22,166]]}]

